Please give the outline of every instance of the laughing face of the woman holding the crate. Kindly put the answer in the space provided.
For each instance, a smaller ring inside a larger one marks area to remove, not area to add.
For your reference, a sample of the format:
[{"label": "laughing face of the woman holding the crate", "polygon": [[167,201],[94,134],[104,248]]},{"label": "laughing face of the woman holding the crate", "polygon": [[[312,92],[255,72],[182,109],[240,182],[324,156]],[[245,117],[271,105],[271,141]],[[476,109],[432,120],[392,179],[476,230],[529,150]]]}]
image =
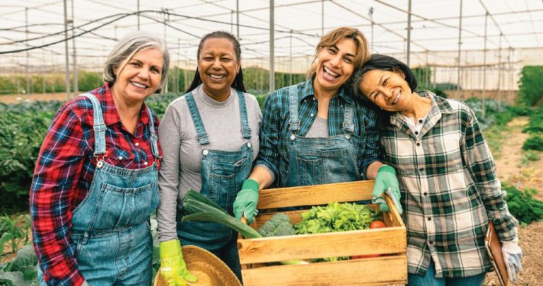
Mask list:
[{"label": "laughing face of the woman holding the crate", "polygon": [[339,40],[331,47],[323,47],[317,54],[315,89],[337,92],[354,71],[356,43],[353,39]]}]

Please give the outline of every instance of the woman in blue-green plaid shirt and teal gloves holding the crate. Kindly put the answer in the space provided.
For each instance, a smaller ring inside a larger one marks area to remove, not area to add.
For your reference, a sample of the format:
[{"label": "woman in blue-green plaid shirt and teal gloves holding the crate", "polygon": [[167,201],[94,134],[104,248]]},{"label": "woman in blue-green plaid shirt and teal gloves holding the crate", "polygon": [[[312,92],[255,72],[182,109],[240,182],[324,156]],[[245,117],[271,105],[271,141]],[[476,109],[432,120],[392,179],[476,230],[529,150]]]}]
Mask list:
[{"label": "woman in blue-green plaid shirt and teal gloves holding the crate", "polygon": [[347,81],[369,58],[364,35],[341,27],[322,36],[308,79],[271,93],[264,103],[260,152],[234,202],[252,222],[259,190],[375,179],[373,201],[386,191],[399,208],[395,171],[380,160],[375,113],[356,103]]}]

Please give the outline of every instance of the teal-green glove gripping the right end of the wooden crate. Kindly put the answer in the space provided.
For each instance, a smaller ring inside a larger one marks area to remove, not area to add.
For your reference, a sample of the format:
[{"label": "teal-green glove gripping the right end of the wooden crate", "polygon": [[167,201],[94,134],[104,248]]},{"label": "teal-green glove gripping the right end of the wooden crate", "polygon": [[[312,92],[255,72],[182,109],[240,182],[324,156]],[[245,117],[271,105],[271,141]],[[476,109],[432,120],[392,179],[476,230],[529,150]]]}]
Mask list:
[{"label": "teal-green glove gripping the right end of the wooden crate", "polygon": [[402,214],[404,210],[402,205],[399,205],[399,187],[398,179],[396,178],[396,171],[391,166],[383,165],[379,168],[377,176],[375,176],[375,183],[373,185],[373,198],[371,202],[379,205],[380,209],[385,212],[390,212],[387,202],[383,198],[383,193],[386,193],[394,202],[394,205],[398,209],[399,214]]}]

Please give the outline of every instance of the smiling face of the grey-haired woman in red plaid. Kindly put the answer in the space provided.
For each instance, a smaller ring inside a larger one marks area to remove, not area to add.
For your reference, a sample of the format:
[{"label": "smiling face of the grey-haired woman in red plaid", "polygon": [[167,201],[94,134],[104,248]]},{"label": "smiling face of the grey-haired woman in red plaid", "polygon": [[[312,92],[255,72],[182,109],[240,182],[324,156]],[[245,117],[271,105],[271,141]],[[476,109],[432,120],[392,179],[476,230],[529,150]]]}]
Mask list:
[{"label": "smiling face of the grey-haired woman in red plaid", "polygon": [[117,80],[112,87],[113,96],[124,102],[142,103],[160,87],[163,69],[163,55],[155,47],[141,50],[124,60],[113,70]]}]

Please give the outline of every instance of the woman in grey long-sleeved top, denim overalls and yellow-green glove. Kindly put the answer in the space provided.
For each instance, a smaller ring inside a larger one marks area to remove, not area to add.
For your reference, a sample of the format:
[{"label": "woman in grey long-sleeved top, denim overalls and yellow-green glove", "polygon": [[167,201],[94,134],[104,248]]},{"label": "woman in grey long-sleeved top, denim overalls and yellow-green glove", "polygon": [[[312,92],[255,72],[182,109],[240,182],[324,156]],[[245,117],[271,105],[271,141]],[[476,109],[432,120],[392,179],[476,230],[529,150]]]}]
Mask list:
[{"label": "woman in grey long-sleeved top, denim overalls and yellow-green glove", "polygon": [[245,93],[240,57],[240,43],[230,33],[205,35],[194,80],[185,96],[170,103],[158,130],[164,154],[158,178],[160,275],[168,285],[196,279],[181,244],[211,251],[241,280],[235,231],[212,222],[181,222],[189,189],[233,214],[233,200],[258,154],[262,115],[255,96]]}]

